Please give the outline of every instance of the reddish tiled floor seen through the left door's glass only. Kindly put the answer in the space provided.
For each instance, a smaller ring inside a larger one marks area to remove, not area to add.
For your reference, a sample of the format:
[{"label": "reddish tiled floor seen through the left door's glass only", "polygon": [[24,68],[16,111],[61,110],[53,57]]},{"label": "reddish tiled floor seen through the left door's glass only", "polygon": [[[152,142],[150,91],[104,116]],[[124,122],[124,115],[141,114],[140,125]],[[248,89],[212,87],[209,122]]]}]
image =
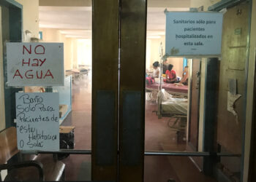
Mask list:
[{"label": "reddish tiled floor seen through the left door's glass only", "polygon": [[[73,82],[72,112],[61,125],[75,126],[75,149],[91,150],[91,74]],[[78,181],[80,167],[91,162],[91,155],[70,155],[62,161],[66,164],[65,179]]]}]

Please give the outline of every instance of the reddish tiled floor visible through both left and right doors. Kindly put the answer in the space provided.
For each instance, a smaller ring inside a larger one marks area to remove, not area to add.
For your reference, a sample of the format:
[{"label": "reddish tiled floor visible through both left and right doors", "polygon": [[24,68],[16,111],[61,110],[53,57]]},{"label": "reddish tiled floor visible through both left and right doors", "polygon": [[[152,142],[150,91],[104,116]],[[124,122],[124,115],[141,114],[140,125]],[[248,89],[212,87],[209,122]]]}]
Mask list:
[{"label": "reddish tiled floor visible through both left and right doors", "polygon": [[[91,149],[91,75],[75,81],[72,86],[72,113],[63,125],[75,126],[75,149]],[[146,101],[145,149],[146,151],[184,151],[185,142],[176,141],[176,132],[167,126],[168,118],[158,119],[152,111],[157,105]],[[62,160],[66,164],[66,180],[78,181],[83,162],[90,162],[90,155],[70,155]],[[201,174],[187,157],[145,157],[145,182],[211,182]]]}]

